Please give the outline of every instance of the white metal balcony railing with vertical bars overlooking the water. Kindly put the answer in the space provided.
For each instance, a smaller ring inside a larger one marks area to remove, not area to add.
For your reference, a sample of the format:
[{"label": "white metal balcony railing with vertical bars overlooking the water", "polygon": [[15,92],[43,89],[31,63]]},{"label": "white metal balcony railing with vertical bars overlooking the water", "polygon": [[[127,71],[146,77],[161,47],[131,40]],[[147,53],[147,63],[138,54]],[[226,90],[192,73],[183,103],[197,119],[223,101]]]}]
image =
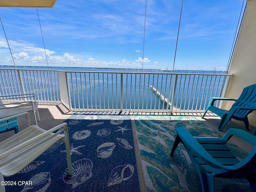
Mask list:
[{"label": "white metal balcony railing with vertical bars overlooking the water", "polygon": [[230,74],[0,69],[0,94],[35,93],[76,111],[200,112],[225,96]]}]

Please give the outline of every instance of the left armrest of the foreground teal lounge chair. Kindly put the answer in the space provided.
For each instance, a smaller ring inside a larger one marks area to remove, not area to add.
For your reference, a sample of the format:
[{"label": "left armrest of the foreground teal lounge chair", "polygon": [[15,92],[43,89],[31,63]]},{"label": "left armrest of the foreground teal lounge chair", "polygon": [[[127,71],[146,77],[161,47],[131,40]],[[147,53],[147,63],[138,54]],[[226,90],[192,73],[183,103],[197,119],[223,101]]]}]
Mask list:
[{"label": "left armrest of the foreground teal lounge chair", "polygon": [[[176,128],[177,136],[180,137],[185,148],[190,150],[194,156],[200,158],[207,165],[218,169],[230,169],[231,166],[224,166],[217,162],[199,143],[198,141],[186,130],[184,127]],[[189,151],[188,151],[189,152]]]}]

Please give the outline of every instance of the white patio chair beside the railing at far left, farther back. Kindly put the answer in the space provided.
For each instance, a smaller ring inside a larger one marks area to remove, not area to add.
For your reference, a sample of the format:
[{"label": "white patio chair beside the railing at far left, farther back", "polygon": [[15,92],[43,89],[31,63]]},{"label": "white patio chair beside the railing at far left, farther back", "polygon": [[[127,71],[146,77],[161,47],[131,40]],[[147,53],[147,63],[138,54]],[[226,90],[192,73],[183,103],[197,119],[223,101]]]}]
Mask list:
[{"label": "white patio chair beside the railing at far left, farther back", "polygon": [[[36,102],[34,94],[0,96],[0,119],[29,111],[34,112],[34,119],[37,125],[36,112],[38,120],[40,120],[40,118],[38,113],[38,102]],[[16,126],[18,126],[18,124]]]}]

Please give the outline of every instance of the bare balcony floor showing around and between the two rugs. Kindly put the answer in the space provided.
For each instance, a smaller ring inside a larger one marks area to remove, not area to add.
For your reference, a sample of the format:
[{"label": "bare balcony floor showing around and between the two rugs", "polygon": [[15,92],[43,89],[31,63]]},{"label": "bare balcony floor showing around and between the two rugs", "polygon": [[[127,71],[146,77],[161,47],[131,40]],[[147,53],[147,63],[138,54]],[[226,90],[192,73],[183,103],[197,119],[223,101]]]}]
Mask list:
[{"label": "bare balcony floor showing around and between the two rugs", "polygon": [[[40,103],[38,106],[38,109],[39,109],[39,115],[40,115],[40,121],[38,121],[38,126],[40,126],[41,128],[43,128],[45,130],[48,130],[54,126],[57,126],[58,124],[61,124],[62,122],[64,122],[66,119],[68,119],[73,114],[73,112],[69,112],[61,103]],[[30,114],[31,125],[33,125],[33,124],[35,124],[33,114],[32,114],[32,112],[29,112],[29,114]],[[159,113],[158,113],[158,115],[159,115]],[[241,129],[246,130],[245,126],[244,126],[244,122],[232,120],[232,121],[228,122],[228,124],[226,125],[224,130],[220,132],[217,130],[217,126],[218,126],[220,118],[218,116],[215,116],[212,113],[207,114],[204,119],[201,118],[201,116],[202,116],[201,113],[175,113],[173,115],[194,116],[194,117],[198,118],[198,120],[202,121],[208,127],[212,128],[213,130],[215,130],[216,132],[218,132],[221,135],[224,135],[225,132],[228,130],[228,128],[232,128],[232,127],[241,128]],[[132,114],[131,114],[131,118],[133,120]],[[23,120],[21,120],[21,122],[19,122],[19,130],[21,131],[24,128],[26,128],[25,121],[23,122]],[[252,134],[254,127],[250,126],[249,128],[250,128],[250,133]],[[5,138],[8,138],[9,136],[12,136],[13,134],[14,134],[14,131],[5,132],[5,133],[0,134],[0,141],[4,140]],[[134,139],[136,139],[135,135],[134,135]],[[250,144],[247,144],[246,142],[244,142],[243,140],[240,140],[239,138],[237,138],[235,136],[232,137],[232,139],[230,141],[232,141],[234,144],[236,144],[237,146],[239,146],[246,152],[250,152],[250,150],[252,150],[252,146]],[[142,168],[141,168],[140,163],[138,163],[138,162],[140,162],[140,157],[139,157],[137,142],[134,142],[134,145],[135,145],[135,152],[136,152],[140,190],[143,192],[143,191],[145,191],[145,188],[144,188],[144,180],[143,180],[143,176],[142,176]],[[170,148],[171,148],[171,146],[170,146]]]}]

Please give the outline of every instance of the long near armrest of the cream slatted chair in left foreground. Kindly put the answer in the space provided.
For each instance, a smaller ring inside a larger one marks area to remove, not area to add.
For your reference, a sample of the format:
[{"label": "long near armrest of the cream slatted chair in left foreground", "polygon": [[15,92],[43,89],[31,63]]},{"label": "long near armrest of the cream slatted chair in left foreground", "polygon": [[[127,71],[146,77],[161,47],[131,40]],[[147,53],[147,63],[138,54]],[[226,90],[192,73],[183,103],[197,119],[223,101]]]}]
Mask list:
[{"label": "long near armrest of the cream slatted chair in left foreground", "polygon": [[[36,128],[36,127],[38,127],[38,126],[33,125],[33,126],[30,126],[30,127],[35,127],[35,128]],[[62,130],[60,130],[60,131],[58,131],[58,132],[52,134],[54,131],[56,131],[56,130],[58,130],[59,128],[62,128],[62,127],[64,127]],[[32,138],[32,139],[30,139],[30,140],[24,142],[24,143],[22,143],[22,144],[20,144],[20,145],[18,145],[18,146],[16,146],[16,147],[14,147],[14,148],[12,148],[11,150],[8,150],[8,151],[6,151],[6,152],[0,154],[0,159],[5,158],[6,156],[9,156],[10,154],[13,154],[14,152],[17,152],[18,150],[20,150],[20,149],[22,149],[22,148],[24,148],[24,147],[26,147],[26,146],[28,146],[28,145],[30,145],[30,144],[32,144],[32,143],[38,141],[38,140],[40,140],[41,138],[43,138],[43,137],[45,137],[45,136],[47,136],[47,135],[50,135],[49,137],[44,138],[44,139],[41,140],[40,142],[37,142],[36,144],[34,144],[34,146],[31,146],[32,148],[34,148],[34,147],[36,147],[36,146],[38,146],[38,145],[40,145],[40,144],[46,142],[47,140],[51,139],[52,137],[54,137],[54,136],[56,136],[57,134],[60,134],[60,133],[62,133],[62,132],[68,132],[68,124],[67,124],[66,122],[65,122],[65,123],[62,123],[62,124],[60,124],[60,125],[58,125],[58,126],[55,126],[54,128],[51,128],[50,130],[45,131],[45,132],[43,132],[42,134],[39,134],[38,136],[36,136],[36,137],[34,137],[34,138]],[[31,148],[31,147],[30,147],[30,148]],[[23,153],[26,153],[27,151],[29,151],[30,148],[27,148],[26,150],[24,150]]]}]

